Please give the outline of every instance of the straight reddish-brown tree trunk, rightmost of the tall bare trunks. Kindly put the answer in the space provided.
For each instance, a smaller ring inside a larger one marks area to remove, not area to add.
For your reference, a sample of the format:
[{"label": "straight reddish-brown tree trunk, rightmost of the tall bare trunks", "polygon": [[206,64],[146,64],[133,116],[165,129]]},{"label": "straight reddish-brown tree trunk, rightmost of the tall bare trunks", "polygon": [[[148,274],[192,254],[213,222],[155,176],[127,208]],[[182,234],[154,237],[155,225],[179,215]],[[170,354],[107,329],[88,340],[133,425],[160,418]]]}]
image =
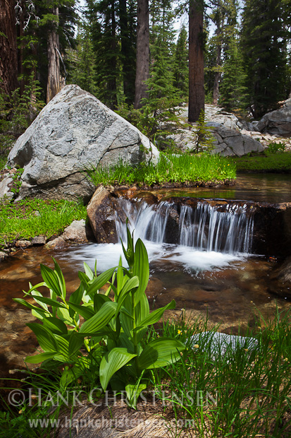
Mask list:
[{"label": "straight reddish-brown tree trunk, rightmost of the tall bare trunks", "polygon": [[190,0],[189,10],[189,122],[204,110],[203,0]]}]

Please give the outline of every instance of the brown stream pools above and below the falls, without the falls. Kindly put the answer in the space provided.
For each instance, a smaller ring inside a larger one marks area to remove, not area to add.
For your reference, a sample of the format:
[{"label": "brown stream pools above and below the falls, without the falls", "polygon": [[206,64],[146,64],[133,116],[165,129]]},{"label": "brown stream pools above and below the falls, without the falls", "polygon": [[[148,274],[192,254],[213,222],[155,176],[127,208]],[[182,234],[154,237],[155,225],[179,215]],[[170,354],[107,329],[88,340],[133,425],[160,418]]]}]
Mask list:
[{"label": "brown stream pools above and below the falls, without the falls", "polygon": [[[218,195],[218,191],[219,194]],[[160,192],[161,193],[161,192]],[[202,194],[203,193],[203,194]],[[173,191],[163,191],[173,196]],[[175,191],[176,196],[203,198],[244,199],[268,202],[291,200],[290,175],[240,176],[235,189],[189,189]],[[234,195],[234,196],[233,196]],[[277,266],[276,259],[264,254],[202,251],[192,247],[161,242],[145,242],[149,251],[150,281],[147,296],[151,308],[175,299],[175,311],[169,317],[178,318],[182,309],[187,316],[208,315],[211,325],[219,324],[225,333],[237,333],[238,326],[254,324],[254,313],[272,316],[275,307],[287,309],[291,305],[290,291],[271,279]],[[120,244],[75,244],[62,251],[48,251],[42,247],[20,250],[0,265],[0,373],[22,367],[22,358],[34,351],[36,341],[25,326],[32,321],[28,309],[13,302],[22,297],[22,290],[41,280],[39,264],[52,266],[51,256],[61,265],[68,292],[78,287],[78,270],[86,261],[99,271],[116,266]]]}]

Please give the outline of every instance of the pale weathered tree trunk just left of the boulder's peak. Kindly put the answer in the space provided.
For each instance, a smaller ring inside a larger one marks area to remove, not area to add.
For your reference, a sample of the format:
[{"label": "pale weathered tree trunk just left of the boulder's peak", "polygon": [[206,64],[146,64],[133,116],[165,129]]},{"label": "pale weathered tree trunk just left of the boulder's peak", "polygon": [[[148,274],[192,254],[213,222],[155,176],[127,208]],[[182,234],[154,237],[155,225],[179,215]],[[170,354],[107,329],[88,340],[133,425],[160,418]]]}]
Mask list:
[{"label": "pale weathered tree trunk just left of the boulder's peak", "polygon": [[60,45],[57,33],[58,7],[54,8],[53,13],[56,16],[56,22],[52,23],[47,40],[47,56],[49,61],[47,71],[47,103],[61,90]]}]

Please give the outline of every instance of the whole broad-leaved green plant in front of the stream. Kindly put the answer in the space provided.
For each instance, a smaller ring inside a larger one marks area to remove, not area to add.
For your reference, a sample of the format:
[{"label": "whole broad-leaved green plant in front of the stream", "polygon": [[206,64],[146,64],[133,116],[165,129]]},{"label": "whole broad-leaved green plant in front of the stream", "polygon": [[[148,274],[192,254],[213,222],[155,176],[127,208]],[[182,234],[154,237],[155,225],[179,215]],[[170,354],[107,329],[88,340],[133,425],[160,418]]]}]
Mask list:
[{"label": "whole broad-leaved green plant in front of the stream", "polygon": [[[147,250],[140,239],[133,243],[128,230],[128,247],[123,246],[129,268],[111,268],[97,276],[84,264],[79,272],[80,286],[67,299],[66,283],[61,268],[54,260],[54,269],[41,265],[42,283],[25,294],[35,304],[16,298],[32,310],[41,324],[27,324],[37,336],[44,353],[26,357],[26,362],[42,362],[43,369],[60,369],[60,386],[66,388],[81,377],[89,384],[99,379],[104,391],[125,389],[130,405],[147,387],[151,369],[159,369],[180,359],[185,346],[175,338],[144,341],[149,326],[155,324],[166,309],[174,309],[175,301],[149,313],[145,290],[149,280]],[[116,271],[116,272],[115,272]],[[109,282],[102,294],[99,289]],[[45,297],[38,288],[49,289]],[[113,300],[109,293],[113,292]],[[82,303],[82,304],[80,304]],[[80,317],[85,322],[80,324]],[[137,395],[137,396],[136,396]]]}]

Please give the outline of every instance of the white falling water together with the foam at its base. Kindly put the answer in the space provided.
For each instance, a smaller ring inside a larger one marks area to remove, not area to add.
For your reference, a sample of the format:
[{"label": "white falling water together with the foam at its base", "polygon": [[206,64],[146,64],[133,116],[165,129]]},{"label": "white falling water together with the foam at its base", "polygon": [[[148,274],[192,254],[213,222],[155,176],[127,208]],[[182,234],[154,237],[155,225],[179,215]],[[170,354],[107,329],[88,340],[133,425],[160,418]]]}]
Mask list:
[{"label": "white falling water together with the foam at its base", "polygon": [[[247,256],[252,245],[252,218],[244,208],[227,206],[226,212],[217,211],[206,203],[198,203],[197,209],[181,206],[178,242],[165,243],[166,224],[176,207],[173,203],[161,202],[159,206],[140,205],[120,200],[124,216],[128,218],[135,242],[142,239],[152,266],[159,270],[173,269],[197,272],[229,266]],[[176,218],[178,215],[176,213]],[[126,225],[116,218],[118,236],[126,244]],[[75,251],[75,257],[94,266],[98,271],[117,266],[123,255],[121,244],[92,244]],[[123,259],[124,266],[126,265]]]}]

